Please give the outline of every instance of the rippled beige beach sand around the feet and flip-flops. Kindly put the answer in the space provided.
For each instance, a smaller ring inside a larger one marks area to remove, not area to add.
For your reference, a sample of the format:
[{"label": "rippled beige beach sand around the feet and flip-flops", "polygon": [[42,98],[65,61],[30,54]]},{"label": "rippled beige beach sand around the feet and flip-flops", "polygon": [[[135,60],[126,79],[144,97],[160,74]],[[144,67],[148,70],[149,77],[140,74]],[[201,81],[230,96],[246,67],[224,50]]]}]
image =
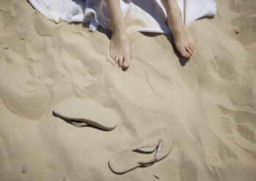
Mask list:
[{"label": "rippled beige beach sand around the feet and flip-flops", "polygon": [[[25,0],[1,0],[0,180],[255,181],[256,3],[217,6],[215,18],[189,26],[189,61],[170,35],[129,32],[133,61],[123,72],[105,29],[56,24]],[[53,116],[74,97],[113,109],[118,126],[77,128]],[[110,171],[111,155],[165,130],[176,142],[167,158]]]}]

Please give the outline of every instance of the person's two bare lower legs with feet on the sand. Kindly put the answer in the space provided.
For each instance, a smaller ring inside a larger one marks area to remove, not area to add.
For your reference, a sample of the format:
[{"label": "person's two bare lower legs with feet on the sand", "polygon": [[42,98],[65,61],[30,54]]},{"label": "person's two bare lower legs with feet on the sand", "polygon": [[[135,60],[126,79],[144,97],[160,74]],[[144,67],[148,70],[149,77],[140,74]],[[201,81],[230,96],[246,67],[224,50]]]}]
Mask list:
[{"label": "person's two bare lower legs with feet on the sand", "polygon": [[[119,66],[128,67],[130,63],[129,39],[119,0],[105,0],[110,14],[110,28],[112,31],[110,41],[110,56]],[[167,11],[167,26],[173,33],[177,50],[185,58],[192,55],[195,43],[184,25],[181,10],[176,0],[162,0]]]}]

